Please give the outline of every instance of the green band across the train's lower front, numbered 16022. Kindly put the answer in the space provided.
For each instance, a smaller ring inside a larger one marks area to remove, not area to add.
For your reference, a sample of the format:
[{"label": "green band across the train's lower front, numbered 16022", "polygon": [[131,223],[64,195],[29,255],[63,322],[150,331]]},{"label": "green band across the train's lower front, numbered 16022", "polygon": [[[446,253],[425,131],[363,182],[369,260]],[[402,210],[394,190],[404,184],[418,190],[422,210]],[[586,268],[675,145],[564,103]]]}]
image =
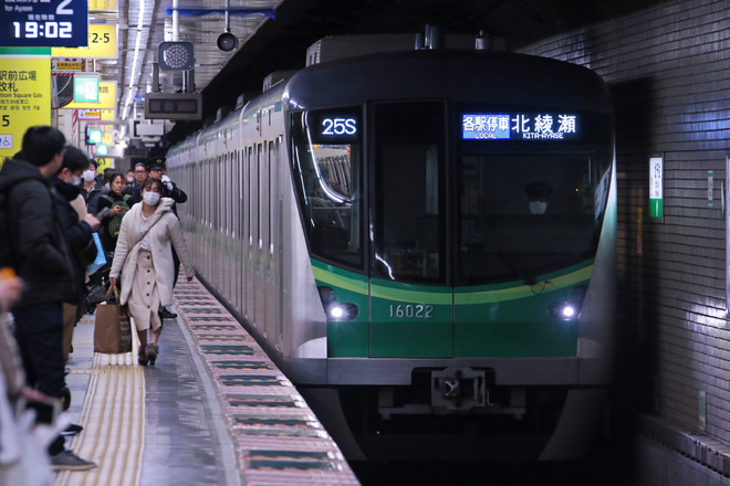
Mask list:
[{"label": "green band across the train's lower front, numbered 16022", "polygon": [[546,309],[587,284],[593,263],[539,276],[532,286],[518,281],[453,289],[377,278],[368,284],[364,275],[316,260],[312,267],[317,285],[361,311],[355,320],[327,323],[332,358],[572,357],[577,324],[551,319]]}]

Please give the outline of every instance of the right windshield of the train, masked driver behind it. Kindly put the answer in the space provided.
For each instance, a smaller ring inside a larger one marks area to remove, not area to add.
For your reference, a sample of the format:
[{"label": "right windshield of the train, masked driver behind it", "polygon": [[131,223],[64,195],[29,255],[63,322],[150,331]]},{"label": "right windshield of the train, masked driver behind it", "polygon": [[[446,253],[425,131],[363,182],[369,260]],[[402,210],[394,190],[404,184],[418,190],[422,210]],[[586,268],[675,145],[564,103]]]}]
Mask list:
[{"label": "right windshield of the train, masked driver behind it", "polygon": [[608,198],[608,157],[467,154],[460,163],[462,285],[531,282],[591,257]]}]

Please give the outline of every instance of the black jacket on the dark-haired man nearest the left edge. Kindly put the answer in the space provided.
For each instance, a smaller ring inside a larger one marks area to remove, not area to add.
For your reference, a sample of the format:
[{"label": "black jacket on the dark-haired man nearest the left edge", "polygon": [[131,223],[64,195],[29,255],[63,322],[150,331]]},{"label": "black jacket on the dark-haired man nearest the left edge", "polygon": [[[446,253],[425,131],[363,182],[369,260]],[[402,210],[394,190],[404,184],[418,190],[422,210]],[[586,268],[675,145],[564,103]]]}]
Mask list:
[{"label": "black jacket on the dark-haired man nearest the left edge", "polygon": [[63,236],[51,181],[38,167],[7,159],[0,169],[0,191],[8,189],[7,224],[13,267],[23,278],[15,308],[61,302],[76,303],[77,284]]}]

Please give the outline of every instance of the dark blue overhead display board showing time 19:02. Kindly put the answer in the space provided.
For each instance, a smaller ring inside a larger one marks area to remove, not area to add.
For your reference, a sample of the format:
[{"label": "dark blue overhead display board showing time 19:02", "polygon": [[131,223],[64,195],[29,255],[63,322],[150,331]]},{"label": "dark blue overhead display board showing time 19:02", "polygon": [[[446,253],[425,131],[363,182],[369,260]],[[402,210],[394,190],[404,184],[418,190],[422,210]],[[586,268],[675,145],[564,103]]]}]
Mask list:
[{"label": "dark blue overhead display board showing time 19:02", "polygon": [[88,1],[0,0],[0,46],[81,47],[88,45]]}]

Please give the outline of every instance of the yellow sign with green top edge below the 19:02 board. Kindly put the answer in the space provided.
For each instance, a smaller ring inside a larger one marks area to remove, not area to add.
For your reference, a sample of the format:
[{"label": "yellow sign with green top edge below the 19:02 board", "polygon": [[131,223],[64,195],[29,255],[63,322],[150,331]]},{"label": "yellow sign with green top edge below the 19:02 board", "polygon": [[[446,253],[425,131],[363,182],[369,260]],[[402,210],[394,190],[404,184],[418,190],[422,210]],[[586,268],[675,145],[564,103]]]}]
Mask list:
[{"label": "yellow sign with green top edge below the 19:02 board", "polygon": [[51,50],[0,47],[0,163],[34,125],[51,125]]}]

